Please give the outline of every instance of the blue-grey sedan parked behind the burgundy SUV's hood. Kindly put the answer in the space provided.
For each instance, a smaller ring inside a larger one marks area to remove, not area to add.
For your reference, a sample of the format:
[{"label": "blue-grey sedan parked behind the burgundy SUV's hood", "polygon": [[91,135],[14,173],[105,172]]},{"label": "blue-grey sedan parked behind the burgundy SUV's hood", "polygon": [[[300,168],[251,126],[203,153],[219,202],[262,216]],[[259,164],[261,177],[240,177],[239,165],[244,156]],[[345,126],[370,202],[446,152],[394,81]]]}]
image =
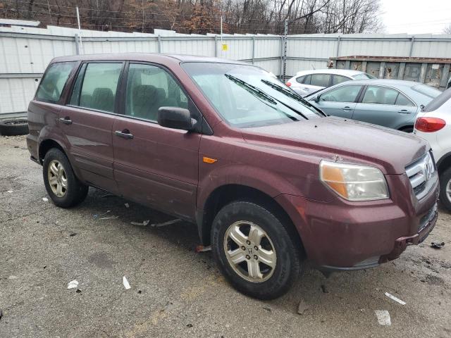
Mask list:
[{"label": "blue-grey sedan parked behind the burgundy SUV's hood", "polygon": [[418,82],[376,79],[343,82],[305,99],[328,115],[412,132],[421,107],[440,94]]}]

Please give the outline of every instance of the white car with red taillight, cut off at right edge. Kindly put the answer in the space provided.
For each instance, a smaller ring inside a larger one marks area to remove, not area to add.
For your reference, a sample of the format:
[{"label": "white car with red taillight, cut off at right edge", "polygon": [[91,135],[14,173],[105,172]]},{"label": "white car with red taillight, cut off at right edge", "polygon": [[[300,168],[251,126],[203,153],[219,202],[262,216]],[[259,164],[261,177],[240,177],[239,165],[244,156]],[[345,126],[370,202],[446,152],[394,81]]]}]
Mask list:
[{"label": "white car with red taillight, cut off at right edge", "polygon": [[[451,211],[451,88],[429,102],[418,114],[414,134],[431,144],[440,175],[440,201]],[[430,172],[431,168],[425,168],[424,175]]]}]

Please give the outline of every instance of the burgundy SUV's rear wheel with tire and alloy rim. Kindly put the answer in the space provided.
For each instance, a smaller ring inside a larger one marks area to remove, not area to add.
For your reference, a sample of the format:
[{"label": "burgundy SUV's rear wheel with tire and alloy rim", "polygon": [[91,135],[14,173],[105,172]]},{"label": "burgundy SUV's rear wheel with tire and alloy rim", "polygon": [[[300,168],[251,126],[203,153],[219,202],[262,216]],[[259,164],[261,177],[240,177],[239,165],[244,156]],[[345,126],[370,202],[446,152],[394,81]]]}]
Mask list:
[{"label": "burgundy SUV's rear wheel with tire and alloy rim", "polygon": [[[42,173],[47,194],[56,206],[70,208],[85,200],[89,187],[75,177],[66,154],[60,149],[52,148],[47,151]],[[61,190],[58,190],[60,187]]]}]

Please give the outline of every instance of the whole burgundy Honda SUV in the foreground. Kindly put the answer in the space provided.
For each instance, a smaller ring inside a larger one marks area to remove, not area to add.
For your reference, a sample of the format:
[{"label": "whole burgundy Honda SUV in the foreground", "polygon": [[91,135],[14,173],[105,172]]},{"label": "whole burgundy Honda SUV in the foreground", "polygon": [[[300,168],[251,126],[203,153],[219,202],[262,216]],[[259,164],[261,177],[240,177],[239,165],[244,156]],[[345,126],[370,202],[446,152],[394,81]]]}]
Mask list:
[{"label": "whole burgundy Honda SUV in the foreground", "polygon": [[245,63],[55,58],[28,121],[54,204],[75,206],[92,186],[196,223],[230,283],[260,299],[286,292],[306,260],[393,260],[438,215],[427,142],[326,116]]}]

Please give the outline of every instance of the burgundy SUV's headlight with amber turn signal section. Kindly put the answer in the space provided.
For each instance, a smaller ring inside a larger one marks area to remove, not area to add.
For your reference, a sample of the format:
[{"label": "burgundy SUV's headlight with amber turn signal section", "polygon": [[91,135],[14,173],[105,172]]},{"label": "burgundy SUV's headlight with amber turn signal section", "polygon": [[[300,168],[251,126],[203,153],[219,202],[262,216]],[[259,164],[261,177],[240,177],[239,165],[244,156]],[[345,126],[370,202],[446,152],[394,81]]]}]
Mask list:
[{"label": "burgundy SUV's headlight with amber turn signal section", "polygon": [[378,168],[321,161],[320,180],[348,201],[388,199],[387,182]]}]

